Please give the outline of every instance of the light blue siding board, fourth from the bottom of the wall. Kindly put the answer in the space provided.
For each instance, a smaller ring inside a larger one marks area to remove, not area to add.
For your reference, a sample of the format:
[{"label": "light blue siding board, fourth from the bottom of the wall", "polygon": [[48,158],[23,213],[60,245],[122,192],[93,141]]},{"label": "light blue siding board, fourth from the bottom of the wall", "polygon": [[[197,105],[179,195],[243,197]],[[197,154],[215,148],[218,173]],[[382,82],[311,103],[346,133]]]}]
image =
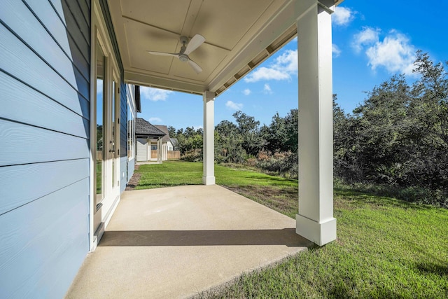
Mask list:
[{"label": "light blue siding board, fourth from the bottom of the wall", "polygon": [[1,118],[78,137],[90,137],[89,121],[86,118],[2,72],[0,95]]}]

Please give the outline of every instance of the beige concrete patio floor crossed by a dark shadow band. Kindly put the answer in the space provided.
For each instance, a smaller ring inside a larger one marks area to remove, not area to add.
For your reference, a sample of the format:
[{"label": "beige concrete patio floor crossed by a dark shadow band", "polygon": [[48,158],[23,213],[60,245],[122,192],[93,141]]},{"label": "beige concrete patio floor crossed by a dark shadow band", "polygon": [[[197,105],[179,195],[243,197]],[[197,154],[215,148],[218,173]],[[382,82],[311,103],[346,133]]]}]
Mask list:
[{"label": "beige concrete patio floor crossed by a dark shadow band", "polygon": [[221,186],[125,191],[66,298],[188,298],[311,244],[294,219]]}]

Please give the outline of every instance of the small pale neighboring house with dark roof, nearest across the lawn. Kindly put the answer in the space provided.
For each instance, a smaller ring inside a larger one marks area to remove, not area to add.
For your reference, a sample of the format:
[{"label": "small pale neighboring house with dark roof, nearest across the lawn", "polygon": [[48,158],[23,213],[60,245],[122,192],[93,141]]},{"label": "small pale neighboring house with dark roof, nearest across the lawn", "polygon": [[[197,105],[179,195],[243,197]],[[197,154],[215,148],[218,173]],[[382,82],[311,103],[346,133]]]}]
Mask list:
[{"label": "small pale neighboring house with dark roof, nearest across the lawn", "polygon": [[137,137],[137,162],[157,161],[162,163],[163,138],[166,133],[143,118],[137,118],[135,134]]}]

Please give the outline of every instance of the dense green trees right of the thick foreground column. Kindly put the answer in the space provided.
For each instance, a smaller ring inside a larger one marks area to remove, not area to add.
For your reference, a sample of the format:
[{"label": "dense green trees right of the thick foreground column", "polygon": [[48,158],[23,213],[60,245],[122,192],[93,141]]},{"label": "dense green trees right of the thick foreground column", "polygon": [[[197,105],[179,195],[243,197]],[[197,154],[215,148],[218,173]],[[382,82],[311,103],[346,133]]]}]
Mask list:
[{"label": "dense green trees right of the thick foreground column", "polygon": [[448,75],[421,51],[414,65],[419,78],[412,86],[405,76],[392,76],[353,115],[334,102],[335,174],[448,190]]}]

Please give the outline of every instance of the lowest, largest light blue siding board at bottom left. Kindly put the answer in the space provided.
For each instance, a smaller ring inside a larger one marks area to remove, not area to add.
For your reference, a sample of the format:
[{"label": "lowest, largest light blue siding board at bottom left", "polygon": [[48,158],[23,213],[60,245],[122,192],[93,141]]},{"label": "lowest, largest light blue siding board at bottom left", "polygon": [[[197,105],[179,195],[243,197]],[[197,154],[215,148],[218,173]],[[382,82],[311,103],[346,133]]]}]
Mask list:
[{"label": "lowest, largest light blue siding board at bottom left", "polygon": [[[87,253],[89,180],[0,216],[0,298],[61,298]],[[56,288],[53,289],[53,288]]]}]

